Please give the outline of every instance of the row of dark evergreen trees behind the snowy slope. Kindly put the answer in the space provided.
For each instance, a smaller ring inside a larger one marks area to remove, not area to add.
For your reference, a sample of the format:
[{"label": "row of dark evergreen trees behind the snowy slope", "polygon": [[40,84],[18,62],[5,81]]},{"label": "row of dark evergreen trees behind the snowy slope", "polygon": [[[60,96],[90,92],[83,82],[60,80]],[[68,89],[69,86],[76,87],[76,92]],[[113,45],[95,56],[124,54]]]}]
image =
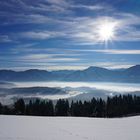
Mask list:
[{"label": "row of dark evergreen trees behind the snowy slope", "polygon": [[13,106],[0,104],[0,114],[34,115],[34,116],[83,116],[83,117],[121,117],[140,113],[140,97],[120,95],[107,100],[93,98],[91,101],[68,100],[30,101],[25,104],[23,99],[17,100]]}]

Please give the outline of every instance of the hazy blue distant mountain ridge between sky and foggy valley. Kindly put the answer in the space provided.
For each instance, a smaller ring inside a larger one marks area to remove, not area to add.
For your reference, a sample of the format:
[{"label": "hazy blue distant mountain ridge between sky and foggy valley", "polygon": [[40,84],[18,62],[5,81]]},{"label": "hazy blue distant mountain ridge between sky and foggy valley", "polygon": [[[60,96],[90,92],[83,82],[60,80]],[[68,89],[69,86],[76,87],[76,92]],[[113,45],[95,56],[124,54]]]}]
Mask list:
[{"label": "hazy blue distant mountain ridge between sky and foggy valley", "polygon": [[0,70],[0,81],[99,81],[140,83],[140,65],[123,70],[89,67],[85,70]]}]

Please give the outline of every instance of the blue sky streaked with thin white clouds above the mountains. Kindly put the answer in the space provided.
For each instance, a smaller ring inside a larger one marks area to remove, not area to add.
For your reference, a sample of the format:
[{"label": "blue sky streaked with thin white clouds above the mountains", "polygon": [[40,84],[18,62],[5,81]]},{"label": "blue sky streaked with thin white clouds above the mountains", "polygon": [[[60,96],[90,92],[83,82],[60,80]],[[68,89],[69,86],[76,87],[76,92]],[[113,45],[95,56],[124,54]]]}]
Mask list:
[{"label": "blue sky streaked with thin white clouds above the mountains", "polygon": [[[106,22],[112,28],[104,40],[107,31],[103,34],[101,27]],[[136,64],[140,64],[140,0],[0,1],[0,69]]]}]

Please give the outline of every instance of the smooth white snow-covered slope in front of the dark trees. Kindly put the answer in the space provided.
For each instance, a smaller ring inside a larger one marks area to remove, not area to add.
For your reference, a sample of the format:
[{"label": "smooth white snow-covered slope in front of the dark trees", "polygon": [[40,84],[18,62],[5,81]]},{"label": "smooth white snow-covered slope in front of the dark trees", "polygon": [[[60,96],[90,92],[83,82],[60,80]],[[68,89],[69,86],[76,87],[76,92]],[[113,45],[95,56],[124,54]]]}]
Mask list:
[{"label": "smooth white snow-covered slope in front of the dark trees", "polygon": [[140,140],[140,116],[101,119],[2,115],[0,140]]}]

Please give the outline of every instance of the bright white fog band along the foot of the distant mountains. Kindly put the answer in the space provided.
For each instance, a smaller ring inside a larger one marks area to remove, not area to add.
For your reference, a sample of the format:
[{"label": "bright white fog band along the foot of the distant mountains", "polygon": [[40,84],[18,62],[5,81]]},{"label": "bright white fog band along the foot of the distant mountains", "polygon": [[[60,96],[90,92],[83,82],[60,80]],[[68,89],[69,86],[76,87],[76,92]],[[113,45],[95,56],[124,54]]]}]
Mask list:
[{"label": "bright white fog band along the foot of the distant mountains", "polygon": [[13,82],[16,87],[59,87],[59,88],[91,88],[112,92],[140,91],[140,84],[136,83],[109,83],[109,82]]}]

